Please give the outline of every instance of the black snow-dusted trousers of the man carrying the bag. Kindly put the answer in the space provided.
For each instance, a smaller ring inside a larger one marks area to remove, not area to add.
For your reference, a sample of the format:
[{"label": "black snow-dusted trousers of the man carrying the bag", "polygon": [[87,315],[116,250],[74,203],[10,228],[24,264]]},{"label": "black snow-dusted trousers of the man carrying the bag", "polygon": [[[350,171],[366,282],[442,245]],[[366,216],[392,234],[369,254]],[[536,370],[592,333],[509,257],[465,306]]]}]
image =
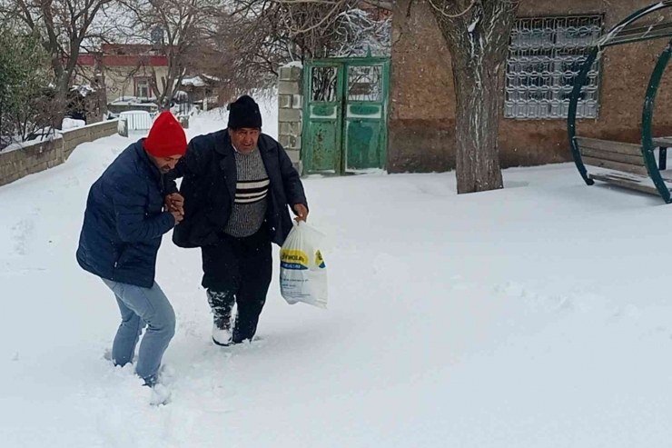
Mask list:
[{"label": "black snow-dusted trousers of the man carrying the bag", "polygon": [[[217,244],[202,247],[203,287],[222,303],[211,303],[212,310],[238,305],[232,342],[252,339],[259,315],[266,303],[272,277],[271,236],[266,224],[252,236],[235,238],[220,235]],[[217,316],[215,315],[215,319]]]}]

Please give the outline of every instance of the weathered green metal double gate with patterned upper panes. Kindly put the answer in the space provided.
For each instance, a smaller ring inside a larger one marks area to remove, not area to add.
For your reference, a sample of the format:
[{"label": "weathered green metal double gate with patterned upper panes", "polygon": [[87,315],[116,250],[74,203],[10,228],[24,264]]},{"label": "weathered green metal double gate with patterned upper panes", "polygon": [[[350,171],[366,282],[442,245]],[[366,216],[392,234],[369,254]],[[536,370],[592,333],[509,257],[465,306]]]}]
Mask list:
[{"label": "weathered green metal double gate with patterned upper panes", "polygon": [[311,61],[303,68],[302,156],[308,174],[384,168],[390,59]]}]

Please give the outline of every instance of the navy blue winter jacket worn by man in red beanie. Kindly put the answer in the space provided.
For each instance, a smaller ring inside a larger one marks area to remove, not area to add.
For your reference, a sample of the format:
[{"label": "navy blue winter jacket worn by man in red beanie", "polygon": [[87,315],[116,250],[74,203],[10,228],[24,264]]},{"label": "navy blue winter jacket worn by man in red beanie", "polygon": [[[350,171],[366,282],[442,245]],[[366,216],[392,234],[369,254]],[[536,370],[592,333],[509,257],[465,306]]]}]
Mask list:
[{"label": "navy blue winter jacket worn by man in red beanie", "polygon": [[163,212],[161,172],[131,144],[95,182],[84,212],[77,262],[114,282],[150,288],[161,237],[175,218]]}]

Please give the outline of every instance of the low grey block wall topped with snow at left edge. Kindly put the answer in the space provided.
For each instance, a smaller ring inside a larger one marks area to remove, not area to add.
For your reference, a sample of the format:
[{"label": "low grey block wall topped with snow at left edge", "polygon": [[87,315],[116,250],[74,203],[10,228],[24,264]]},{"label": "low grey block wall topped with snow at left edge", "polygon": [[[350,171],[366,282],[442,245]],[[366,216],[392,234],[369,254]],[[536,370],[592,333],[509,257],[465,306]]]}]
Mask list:
[{"label": "low grey block wall topped with snow at left edge", "polygon": [[0,185],[63,164],[78,144],[115,134],[116,128],[116,120],[90,124],[64,131],[50,141],[25,144],[0,153]]}]

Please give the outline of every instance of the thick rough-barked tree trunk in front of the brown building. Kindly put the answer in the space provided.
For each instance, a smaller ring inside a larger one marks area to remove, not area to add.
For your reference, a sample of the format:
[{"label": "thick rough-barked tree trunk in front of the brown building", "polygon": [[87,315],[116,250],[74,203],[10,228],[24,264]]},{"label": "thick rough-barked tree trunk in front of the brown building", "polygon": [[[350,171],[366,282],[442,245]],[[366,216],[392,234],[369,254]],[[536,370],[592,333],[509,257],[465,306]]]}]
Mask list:
[{"label": "thick rough-barked tree trunk in front of the brown building", "polygon": [[452,58],[458,193],[502,188],[501,66],[519,0],[429,0]]}]

